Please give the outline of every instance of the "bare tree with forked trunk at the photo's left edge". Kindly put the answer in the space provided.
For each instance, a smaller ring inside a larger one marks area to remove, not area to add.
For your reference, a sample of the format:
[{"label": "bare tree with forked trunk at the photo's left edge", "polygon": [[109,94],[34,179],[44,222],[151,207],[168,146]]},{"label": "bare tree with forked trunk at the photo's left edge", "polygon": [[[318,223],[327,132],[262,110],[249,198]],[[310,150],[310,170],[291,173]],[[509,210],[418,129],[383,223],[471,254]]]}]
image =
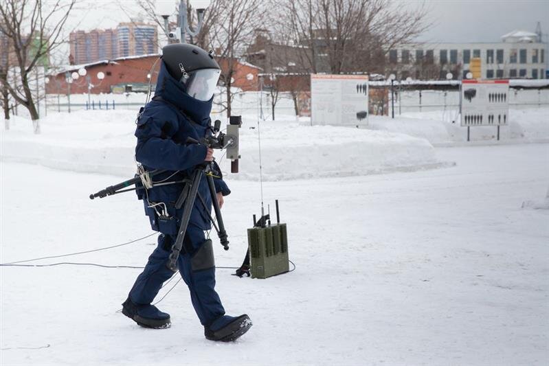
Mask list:
[{"label": "bare tree with forked trunk at the photo's left edge", "polygon": [[36,100],[30,87],[30,76],[41,63],[47,63],[49,53],[62,43],[63,26],[75,2],[76,0],[0,2],[0,32],[12,39],[16,61],[14,66],[18,69],[17,80],[5,85],[12,98],[29,111],[35,133],[40,133],[40,125]]}]

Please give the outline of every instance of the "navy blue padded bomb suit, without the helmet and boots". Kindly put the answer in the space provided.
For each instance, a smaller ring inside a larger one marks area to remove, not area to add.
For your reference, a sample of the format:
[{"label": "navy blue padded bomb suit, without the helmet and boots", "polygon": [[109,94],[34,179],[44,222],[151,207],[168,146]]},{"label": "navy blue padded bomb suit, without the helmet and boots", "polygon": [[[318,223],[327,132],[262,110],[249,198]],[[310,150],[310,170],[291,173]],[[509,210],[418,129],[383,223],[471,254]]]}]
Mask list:
[{"label": "navy blue padded bomb suit, without the helmet and boots", "polygon": [[[154,181],[161,181],[170,177],[170,181],[189,177],[193,167],[205,159],[207,148],[203,145],[186,144],[187,137],[199,140],[210,134],[210,111],[212,100],[202,102],[191,98],[183,84],[172,78],[168,73],[164,61],[161,62],[155,98],[146,104],[144,111],[137,120],[137,147],[135,158],[147,170],[168,170],[161,176],[154,176]],[[179,172],[177,172],[179,171]],[[173,176],[172,176],[173,175]],[[223,196],[230,193],[222,179],[214,179],[216,192]],[[150,304],[162,284],[172,276],[172,271],[166,267],[170,248],[177,238],[177,231],[183,209],[175,209],[175,201],[183,190],[183,184],[153,187],[141,194],[145,212],[150,225],[155,231],[160,231],[158,246],[148,258],[144,271],[137,277],[129,293],[135,304]],[[199,186],[199,193],[211,211],[212,201],[208,182],[203,176]],[[162,212],[164,203],[168,218]],[[203,208],[199,199],[194,203],[192,214],[183,242],[183,250],[179,255],[179,273],[189,287],[192,305],[203,325],[210,325],[212,321],[225,314],[219,295],[214,290],[215,268],[196,269],[193,266],[194,255],[201,247],[205,247],[204,230],[210,229],[211,224],[208,212]],[[209,243],[211,247],[211,242]],[[203,252],[203,250],[202,250]],[[211,252],[211,250],[210,250]],[[213,256],[213,253],[211,253]],[[194,268],[194,271],[193,271]]]}]

